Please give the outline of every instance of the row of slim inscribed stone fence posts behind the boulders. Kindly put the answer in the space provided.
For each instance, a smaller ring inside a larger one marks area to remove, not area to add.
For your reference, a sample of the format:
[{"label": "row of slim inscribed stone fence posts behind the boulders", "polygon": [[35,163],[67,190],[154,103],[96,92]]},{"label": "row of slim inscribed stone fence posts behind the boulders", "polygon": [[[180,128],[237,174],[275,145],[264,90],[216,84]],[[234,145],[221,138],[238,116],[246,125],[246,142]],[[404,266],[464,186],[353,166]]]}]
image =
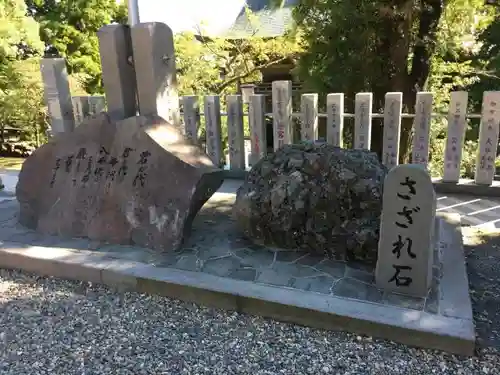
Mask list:
[{"label": "row of slim inscribed stone fence posts behind the boulders", "polygon": [[[227,116],[228,126],[228,168],[244,170],[248,164],[267,153],[266,116],[273,118],[274,149],[292,142],[318,140],[318,118],[326,117],[326,142],[343,147],[344,119],[354,118],[354,147],[369,149],[373,118],[383,118],[383,163],[389,168],[398,164],[401,119],[411,117],[413,121],[412,162],[427,165],[429,156],[429,135],[431,118],[442,116],[432,113],[433,96],[430,92],[417,93],[415,114],[402,113],[403,95],[390,92],[385,95],[384,113],[372,113],[372,93],[358,93],[355,98],[354,114],[344,112],[344,94],[332,93],[326,98],[327,113],[318,112],[318,94],[302,94],[300,112],[292,112],[291,82],[276,81],[272,85],[272,113],[265,113],[265,96],[251,95],[248,112],[243,111],[240,95],[226,97],[226,111],[221,111],[219,96],[209,95],[198,102],[197,96],[180,98],[186,135],[198,141],[201,117],[205,118],[206,151],[216,164],[223,160],[221,117]],[[460,163],[467,125],[467,118],[480,118],[479,152],[476,162],[475,183],[491,185],[495,175],[495,157],[498,145],[500,123],[500,91],[484,93],[482,113],[467,114],[468,93],[451,93],[448,111],[448,134],[445,148],[443,182],[458,183]],[[105,109],[102,96],[73,97],[75,124],[90,114]],[[203,112],[200,110],[203,107]],[[244,116],[248,116],[250,127],[250,155],[245,149]],[[299,118],[300,139],[293,139],[293,118]]]}]

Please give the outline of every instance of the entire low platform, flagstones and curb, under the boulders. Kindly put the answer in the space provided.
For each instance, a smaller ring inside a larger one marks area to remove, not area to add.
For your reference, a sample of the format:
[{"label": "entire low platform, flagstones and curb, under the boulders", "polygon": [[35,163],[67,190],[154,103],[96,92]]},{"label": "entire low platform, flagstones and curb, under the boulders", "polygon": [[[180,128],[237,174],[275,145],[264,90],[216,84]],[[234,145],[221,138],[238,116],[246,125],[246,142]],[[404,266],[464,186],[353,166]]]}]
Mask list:
[{"label": "entire low platform, flagstones and curb, under the boulders", "polygon": [[0,267],[104,283],[308,326],[340,329],[472,355],[474,325],[456,216],[439,219],[433,286],[426,298],[383,292],[374,270],[241,237],[234,196],[200,211],[181,251],[44,236],[17,224],[17,202],[0,202]]}]

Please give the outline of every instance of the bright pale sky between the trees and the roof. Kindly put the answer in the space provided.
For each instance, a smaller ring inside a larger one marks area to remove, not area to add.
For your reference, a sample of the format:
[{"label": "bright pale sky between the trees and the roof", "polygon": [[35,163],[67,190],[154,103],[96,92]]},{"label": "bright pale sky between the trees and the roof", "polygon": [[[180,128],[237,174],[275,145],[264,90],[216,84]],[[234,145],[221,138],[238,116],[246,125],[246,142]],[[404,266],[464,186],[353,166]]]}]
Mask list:
[{"label": "bright pale sky between the trees and the roof", "polygon": [[218,34],[228,29],[245,0],[138,0],[141,22],[163,22],[174,33],[196,31]]}]

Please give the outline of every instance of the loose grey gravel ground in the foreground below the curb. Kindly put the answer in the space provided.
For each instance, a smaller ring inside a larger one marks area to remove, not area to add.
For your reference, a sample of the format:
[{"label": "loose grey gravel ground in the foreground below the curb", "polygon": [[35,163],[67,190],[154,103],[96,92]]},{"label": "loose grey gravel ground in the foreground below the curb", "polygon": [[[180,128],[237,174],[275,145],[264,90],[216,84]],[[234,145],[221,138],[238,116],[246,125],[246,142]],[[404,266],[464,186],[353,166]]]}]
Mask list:
[{"label": "loose grey gravel ground in the foreground below the curb", "polygon": [[0,374],[499,374],[460,358],[0,270]]}]

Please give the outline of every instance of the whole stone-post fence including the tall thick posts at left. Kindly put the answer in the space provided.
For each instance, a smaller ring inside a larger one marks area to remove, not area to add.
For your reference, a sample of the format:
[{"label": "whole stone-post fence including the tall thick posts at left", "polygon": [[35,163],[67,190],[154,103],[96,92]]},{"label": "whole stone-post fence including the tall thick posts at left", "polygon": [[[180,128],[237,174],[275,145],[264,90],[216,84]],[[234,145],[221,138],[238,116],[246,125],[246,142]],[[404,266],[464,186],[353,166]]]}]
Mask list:
[{"label": "whole stone-post fence including the tall thick posts at left", "polygon": [[[198,103],[198,97],[178,97],[177,67],[172,30],[161,22],[139,23],[131,27],[106,25],[98,32],[103,87],[106,110],[113,121],[119,121],[137,113],[158,115],[176,124],[184,122],[186,135],[198,136],[198,129],[205,125],[206,151],[212,160],[229,169],[227,175],[240,178],[248,166],[267,152],[266,96],[249,97],[247,113],[243,111],[243,98],[229,95],[224,98],[226,108],[221,112],[221,98],[208,95]],[[72,98],[66,62],[62,58],[44,58],[41,61],[45,102],[50,117],[51,133],[73,131],[76,124],[89,114],[103,108],[104,98]],[[318,95],[303,94],[300,112],[292,110],[292,83],[276,81],[271,85],[273,143],[274,148],[283,144],[318,138],[318,119],[326,117],[326,139],[324,141],[346,147],[342,139],[344,120],[354,119],[353,147],[368,149],[371,146],[371,128],[374,118],[383,119],[383,162],[388,167],[398,163],[401,119],[413,118],[414,134],[412,163],[427,165],[429,158],[429,136],[432,113],[432,93],[419,92],[414,114],[402,112],[403,95],[387,93],[382,114],[372,113],[371,93],[358,93],[353,114],[344,112],[344,94],[331,93],[326,97],[326,113],[318,113]],[[448,136],[445,146],[444,176],[435,181],[441,192],[460,192],[476,195],[498,196],[500,184],[494,180],[495,157],[498,145],[500,92],[485,92],[481,114],[467,114],[467,92],[451,94],[448,117]],[[95,104],[98,103],[98,104]],[[180,108],[183,107],[182,113]],[[203,113],[200,110],[203,108]],[[201,121],[203,116],[203,120]],[[226,133],[222,134],[221,116],[227,116]],[[248,116],[247,119],[244,118]],[[441,116],[441,115],[440,115]],[[300,137],[296,134],[296,119],[300,119]],[[467,118],[481,120],[479,149],[475,179],[460,179],[460,164],[465,138]],[[182,121],[184,119],[184,121]],[[324,121],[322,121],[323,124]],[[250,137],[244,139],[244,126],[248,124]],[[323,130],[323,129],[321,129]],[[349,129],[351,130],[351,129]],[[223,138],[224,137],[224,142]],[[299,138],[299,139],[296,139]],[[250,157],[245,146],[250,143]],[[222,146],[228,146],[228,155],[223,155]],[[234,172],[234,173],[233,173]],[[446,182],[446,183],[441,183]]]}]

